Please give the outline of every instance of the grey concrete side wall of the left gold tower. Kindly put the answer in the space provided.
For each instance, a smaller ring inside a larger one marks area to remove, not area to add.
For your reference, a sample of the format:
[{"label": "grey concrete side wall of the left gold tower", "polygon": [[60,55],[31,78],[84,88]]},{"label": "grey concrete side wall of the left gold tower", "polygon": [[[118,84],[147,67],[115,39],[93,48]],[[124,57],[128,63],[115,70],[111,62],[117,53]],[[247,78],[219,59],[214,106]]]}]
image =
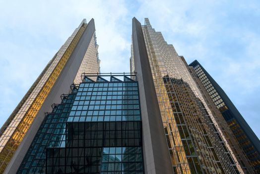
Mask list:
[{"label": "grey concrete side wall of the left gold tower", "polygon": [[[85,19],[83,20],[85,21]],[[15,174],[20,167],[20,164],[23,161],[24,156],[26,155],[31,142],[33,141],[37,130],[39,129],[42,121],[45,118],[46,112],[51,112],[53,103],[59,103],[61,100],[61,94],[68,93],[70,90],[70,85],[73,84],[75,76],[80,67],[81,61],[84,58],[85,52],[88,48],[90,40],[95,32],[94,19],[92,18],[76,44],[73,52],[71,53],[69,60],[66,62],[65,67],[63,68],[60,76],[52,87],[49,95],[44,101],[41,109],[36,115],[33,123],[31,124],[28,132],[25,134],[21,144],[17,148],[12,159],[8,163],[7,167],[3,174]],[[72,68],[73,67],[73,68]]]}]

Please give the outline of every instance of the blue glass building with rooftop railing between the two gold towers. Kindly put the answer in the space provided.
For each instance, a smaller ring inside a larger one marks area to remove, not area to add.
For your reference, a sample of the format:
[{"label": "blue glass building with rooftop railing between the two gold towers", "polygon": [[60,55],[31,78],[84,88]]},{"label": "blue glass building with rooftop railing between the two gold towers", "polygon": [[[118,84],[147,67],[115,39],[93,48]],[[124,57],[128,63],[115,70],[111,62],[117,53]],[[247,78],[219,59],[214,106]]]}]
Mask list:
[{"label": "blue glass building with rooftop railing between the two gold towers", "polygon": [[135,76],[82,74],[47,113],[18,174],[143,174]]}]

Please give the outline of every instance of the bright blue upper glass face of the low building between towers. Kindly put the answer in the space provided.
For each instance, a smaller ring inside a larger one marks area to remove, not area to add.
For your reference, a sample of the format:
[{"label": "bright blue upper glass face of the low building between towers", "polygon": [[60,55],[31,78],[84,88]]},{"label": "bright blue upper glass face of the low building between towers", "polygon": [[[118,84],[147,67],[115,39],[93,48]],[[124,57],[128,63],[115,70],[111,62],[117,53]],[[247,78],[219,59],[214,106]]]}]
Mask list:
[{"label": "bright blue upper glass face of the low building between towers", "polygon": [[136,83],[81,84],[68,121],[140,120]]}]

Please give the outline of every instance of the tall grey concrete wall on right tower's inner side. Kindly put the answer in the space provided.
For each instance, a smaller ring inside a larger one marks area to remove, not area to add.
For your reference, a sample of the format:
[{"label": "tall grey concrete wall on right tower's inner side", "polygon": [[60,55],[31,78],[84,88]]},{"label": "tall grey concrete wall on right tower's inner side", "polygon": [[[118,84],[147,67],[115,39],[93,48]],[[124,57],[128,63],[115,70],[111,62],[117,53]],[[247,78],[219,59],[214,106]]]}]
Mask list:
[{"label": "tall grey concrete wall on right tower's inner side", "polygon": [[132,19],[134,69],[137,72],[145,174],[173,174],[162,118],[140,22]]}]

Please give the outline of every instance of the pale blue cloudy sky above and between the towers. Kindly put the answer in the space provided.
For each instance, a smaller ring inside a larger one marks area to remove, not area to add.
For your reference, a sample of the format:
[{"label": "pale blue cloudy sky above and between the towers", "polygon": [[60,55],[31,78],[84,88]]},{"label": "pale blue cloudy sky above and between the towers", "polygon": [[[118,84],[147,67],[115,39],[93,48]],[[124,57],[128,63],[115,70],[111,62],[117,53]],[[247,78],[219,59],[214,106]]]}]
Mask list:
[{"label": "pale blue cloudy sky above and between the towers", "polygon": [[83,18],[101,72],[130,72],[133,16],[198,60],[260,138],[259,0],[0,0],[0,126]]}]

